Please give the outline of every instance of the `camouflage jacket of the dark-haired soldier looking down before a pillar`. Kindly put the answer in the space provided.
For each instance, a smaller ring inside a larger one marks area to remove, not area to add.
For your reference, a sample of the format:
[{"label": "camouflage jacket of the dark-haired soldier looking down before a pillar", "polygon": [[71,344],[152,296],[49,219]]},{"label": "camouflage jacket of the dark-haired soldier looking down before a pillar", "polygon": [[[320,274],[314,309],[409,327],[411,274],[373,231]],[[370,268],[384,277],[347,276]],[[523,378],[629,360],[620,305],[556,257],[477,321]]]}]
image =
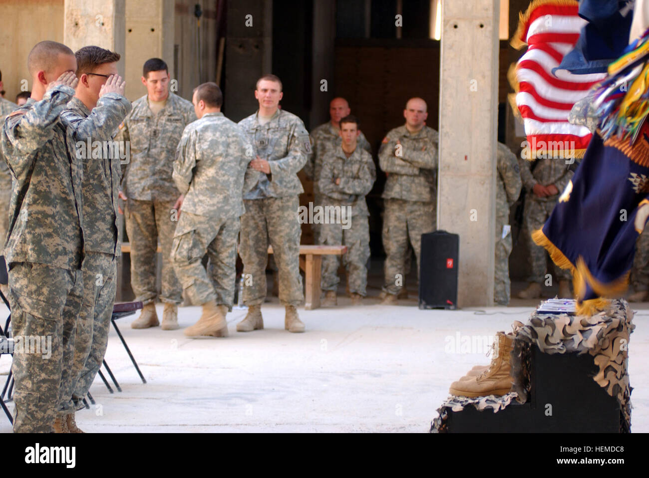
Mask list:
[{"label": "camouflage jacket of the dark-haired soldier looking down before a pillar", "polygon": [[193,104],[169,92],[167,104],[157,115],[144,95],[119,125],[117,141],[130,142],[130,161],[122,165],[122,189],[129,199],[171,201],[178,191],[171,173],[185,126],[195,121]]}]

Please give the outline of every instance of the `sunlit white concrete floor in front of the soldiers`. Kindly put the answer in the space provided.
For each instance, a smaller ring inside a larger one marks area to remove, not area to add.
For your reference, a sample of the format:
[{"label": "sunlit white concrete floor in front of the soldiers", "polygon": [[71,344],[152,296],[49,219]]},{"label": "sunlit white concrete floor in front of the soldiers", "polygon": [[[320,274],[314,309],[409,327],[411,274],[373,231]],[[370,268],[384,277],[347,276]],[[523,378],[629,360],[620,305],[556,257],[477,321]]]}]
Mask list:
[{"label": "sunlit white concrete floor in front of the soldiers", "polygon": [[[263,306],[261,331],[236,332],[245,311],[228,314],[226,339],[183,335],[199,307],[179,309],[177,331],[134,330],[136,316],[123,318],[118,325],[148,383],[141,383],[111,329],[106,361],[123,391],[110,394],[97,377],[91,388],[97,405],[78,412],[77,423],[88,432],[117,433],[426,432],[450,383],[472,365],[489,363],[484,350],[449,353],[449,337],[493,336],[533,311],[531,304],[482,313],[419,310],[415,299],[396,306],[366,302],[352,307],[339,298],[334,309],[300,308],[302,334],[284,331],[276,299]],[[649,311],[646,304],[635,308],[643,310],[629,348],[632,431],[648,432]],[[0,383],[9,362],[0,359]],[[10,430],[0,415],[0,432]]]}]

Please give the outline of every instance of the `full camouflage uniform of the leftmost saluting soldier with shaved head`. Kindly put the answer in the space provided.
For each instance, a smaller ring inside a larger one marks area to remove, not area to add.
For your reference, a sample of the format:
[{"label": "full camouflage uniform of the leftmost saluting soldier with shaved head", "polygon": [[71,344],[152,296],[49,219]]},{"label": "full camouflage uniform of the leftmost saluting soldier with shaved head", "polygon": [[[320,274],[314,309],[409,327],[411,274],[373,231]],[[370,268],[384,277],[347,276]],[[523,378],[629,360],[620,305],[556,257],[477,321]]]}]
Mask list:
[{"label": "full camouflage uniform of the leftmost saluting soldier with shaved head", "polygon": [[83,298],[83,173],[73,132],[60,113],[74,94],[60,85],[42,101],[29,99],[6,118],[2,130],[3,156],[13,178],[5,242],[13,335],[51,337],[49,359],[14,353],[16,432],[53,431],[61,384],[71,380],[73,370]]}]

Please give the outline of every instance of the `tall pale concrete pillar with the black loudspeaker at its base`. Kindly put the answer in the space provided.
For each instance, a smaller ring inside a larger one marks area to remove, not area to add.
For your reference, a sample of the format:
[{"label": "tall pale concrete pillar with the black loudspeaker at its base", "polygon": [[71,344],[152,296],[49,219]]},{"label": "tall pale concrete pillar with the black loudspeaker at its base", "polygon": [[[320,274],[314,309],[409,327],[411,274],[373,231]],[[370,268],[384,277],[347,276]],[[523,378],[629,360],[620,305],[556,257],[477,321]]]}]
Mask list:
[{"label": "tall pale concrete pillar with the black loudspeaker at its base", "polygon": [[493,305],[499,0],[445,1],[437,228],[459,234],[458,305]]}]

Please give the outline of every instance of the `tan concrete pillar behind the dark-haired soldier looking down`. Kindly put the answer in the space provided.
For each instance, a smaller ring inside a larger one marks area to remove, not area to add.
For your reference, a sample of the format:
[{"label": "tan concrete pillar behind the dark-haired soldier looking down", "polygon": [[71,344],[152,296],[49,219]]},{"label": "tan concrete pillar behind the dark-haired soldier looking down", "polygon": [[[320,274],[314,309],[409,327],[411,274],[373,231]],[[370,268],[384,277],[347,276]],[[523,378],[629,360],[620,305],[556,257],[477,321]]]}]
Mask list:
[{"label": "tan concrete pillar behind the dark-haired soldier looking down", "polygon": [[126,96],[134,101],[147,93],[142,85],[142,66],[149,58],[162,58],[174,78],[175,10],[173,0],[126,0]]}]

